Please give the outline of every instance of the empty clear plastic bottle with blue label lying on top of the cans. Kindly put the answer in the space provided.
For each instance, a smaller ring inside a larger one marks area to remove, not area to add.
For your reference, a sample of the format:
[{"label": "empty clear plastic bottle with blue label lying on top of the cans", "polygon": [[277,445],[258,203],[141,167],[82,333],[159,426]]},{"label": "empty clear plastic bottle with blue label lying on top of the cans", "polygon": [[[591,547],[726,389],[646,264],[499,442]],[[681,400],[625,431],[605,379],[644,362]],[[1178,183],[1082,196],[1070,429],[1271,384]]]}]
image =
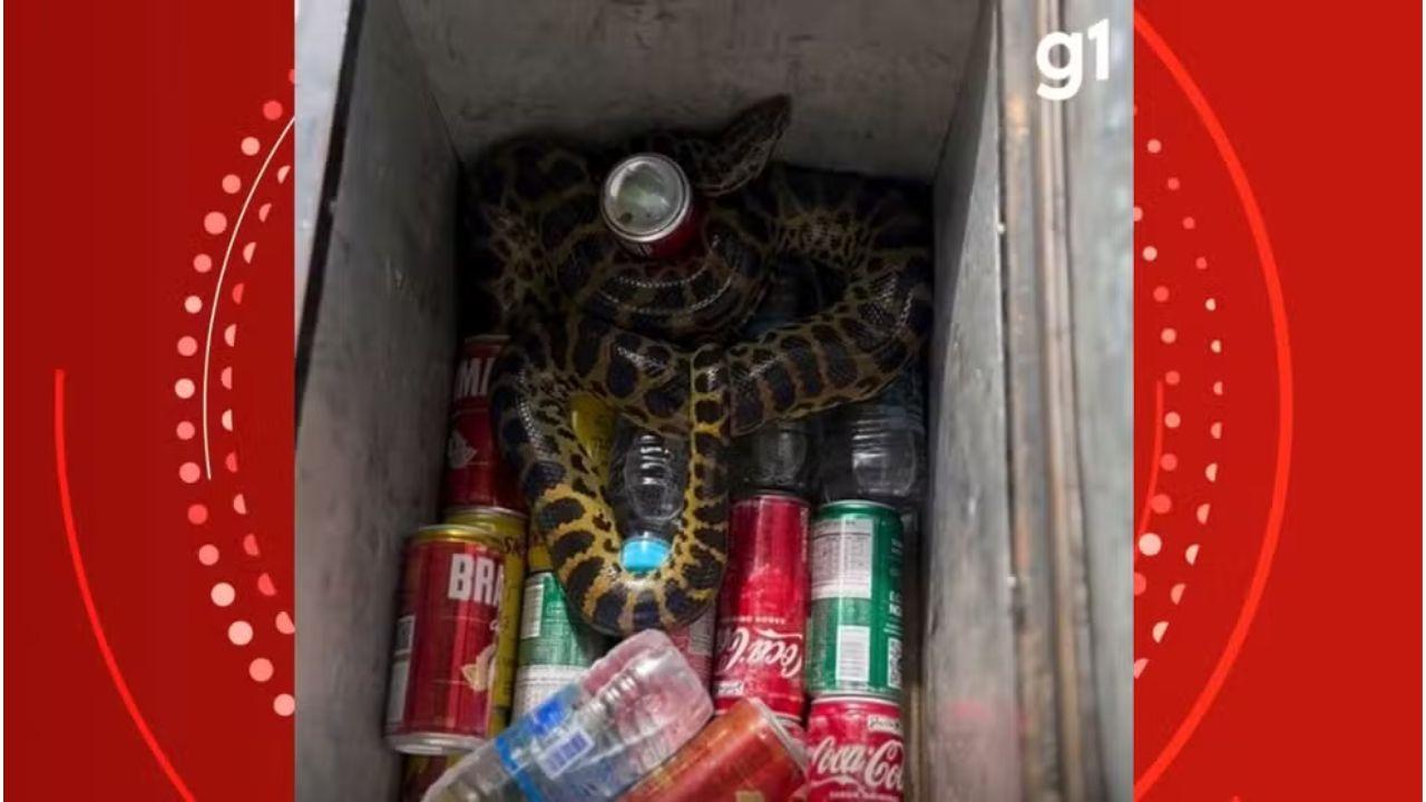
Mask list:
[{"label": "empty clear plastic bottle with blue label lying on top of the cans", "polygon": [[707,688],[669,636],[646,629],[452,766],[425,802],[615,799],[712,715]]}]

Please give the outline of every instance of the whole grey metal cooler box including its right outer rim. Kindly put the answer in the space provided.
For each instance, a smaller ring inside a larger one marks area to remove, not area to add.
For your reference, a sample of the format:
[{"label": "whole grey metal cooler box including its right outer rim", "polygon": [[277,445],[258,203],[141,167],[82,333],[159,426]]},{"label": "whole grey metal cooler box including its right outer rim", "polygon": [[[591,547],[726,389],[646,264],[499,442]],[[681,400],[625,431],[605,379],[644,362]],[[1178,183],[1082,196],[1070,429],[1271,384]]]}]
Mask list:
[{"label": "whole grey metal cooler box including its right outer rim", "polygon": [[[1109,80],[1037,97],[1040,37],[1107,16]],[[781,158],[934,187],[907,798],[1128,799],[1129,37],[1108,0],[304,1],[298,798],[395,793],[394,591],[438,505],[462,160],[786,91]]]}]

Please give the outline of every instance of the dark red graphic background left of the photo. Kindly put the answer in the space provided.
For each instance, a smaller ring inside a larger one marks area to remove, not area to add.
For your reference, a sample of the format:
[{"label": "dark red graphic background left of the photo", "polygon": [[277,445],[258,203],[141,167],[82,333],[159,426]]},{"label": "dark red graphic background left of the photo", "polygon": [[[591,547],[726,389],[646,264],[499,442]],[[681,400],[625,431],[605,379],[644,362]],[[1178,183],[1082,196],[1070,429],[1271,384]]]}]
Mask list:
[{"label": "dark red graphic background left of the photo", "polygon": [[[244,136],[264,150],[281,128],[264,117],[277,100],[291,114],[292,6],[244,3],[13,1],[4,4],[6,257],[4,791],[13,799],[173,799],[130,721],[96,648],[61,524],[53,441],[54,371],[66,371],[67,452],[77,539],[116,662],[194,796],[281,799],[292,786],[292,719],[272,699],[292,689],[291,636],[274,628],[291,611],[292,270],[291,198],[275,201],[245,281],[242,305],[225,300],[218,331],[235,387],[218,390],[237,432],[217,452],[215,479],[180,481],[194,442],[175,425],[193,417],[174,382],[197,377],[177,341],[201,334],[221,255],[204,215],[235,220],[241,194],[227,173],[255,170]],[[271,190],[271,187],[270,187]],[[261,235],[258,234],[261,231]],[[241,241],[240,241],[241,244]],[[204,298],[201,315],[183,301]],[[201,337],[200,337],[201,341]],[[197,357],[201,360],[200,357]],[[261,361],[265,378],[258,375]],[[217,382],[217,375],[214,375]],[[235,450],[241,472],[221,468]],[[191,527],[188,504],[244,494],[240,522],[225,502]],[[238,527],[244,529],[238,529]],[[242,555],[251,531],[261,559]],[[222,561],[200,565],[215,542]],[[255,581],[270,572],[271,598]],[[217,578],[237,588],[221,609]],[[238,648],[228,622],[250,616]],[[248,678],[265,655],[275,675]]]}]

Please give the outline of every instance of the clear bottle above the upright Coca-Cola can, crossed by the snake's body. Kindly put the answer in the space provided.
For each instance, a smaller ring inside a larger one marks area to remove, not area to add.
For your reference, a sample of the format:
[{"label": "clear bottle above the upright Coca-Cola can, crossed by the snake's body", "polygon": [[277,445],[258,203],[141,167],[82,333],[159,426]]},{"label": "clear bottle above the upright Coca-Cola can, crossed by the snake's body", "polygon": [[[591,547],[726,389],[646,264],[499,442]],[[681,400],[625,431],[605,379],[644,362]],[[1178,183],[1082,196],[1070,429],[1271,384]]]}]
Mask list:
[{"label": "clear bottle above the upright Coca-Cola can, crossed by the snake's body", "polygon": [[[743,327],[752,338],[816,308],[816,285],[807,270],[780,264],[757,311]],[[811,498],[816,482],[817,421],[773,421],[733,441],[733,489],[739,497],[787,492]]]}]

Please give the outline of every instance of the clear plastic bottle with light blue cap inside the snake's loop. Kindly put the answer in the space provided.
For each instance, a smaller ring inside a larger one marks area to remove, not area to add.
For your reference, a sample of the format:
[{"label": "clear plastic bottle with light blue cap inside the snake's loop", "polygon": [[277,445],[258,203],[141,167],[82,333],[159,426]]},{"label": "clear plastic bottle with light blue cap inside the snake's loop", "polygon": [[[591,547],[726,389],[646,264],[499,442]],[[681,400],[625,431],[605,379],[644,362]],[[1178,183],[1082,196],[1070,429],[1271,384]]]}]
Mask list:
[{"label": "clear plastic bottle with light blue cap inside the snake's loop", "polygon": [[687,444],[620,418],[610,450],[609,502],[623,532],[620,558],[630,571],[653,571],[669,554],[683,512]]}]

